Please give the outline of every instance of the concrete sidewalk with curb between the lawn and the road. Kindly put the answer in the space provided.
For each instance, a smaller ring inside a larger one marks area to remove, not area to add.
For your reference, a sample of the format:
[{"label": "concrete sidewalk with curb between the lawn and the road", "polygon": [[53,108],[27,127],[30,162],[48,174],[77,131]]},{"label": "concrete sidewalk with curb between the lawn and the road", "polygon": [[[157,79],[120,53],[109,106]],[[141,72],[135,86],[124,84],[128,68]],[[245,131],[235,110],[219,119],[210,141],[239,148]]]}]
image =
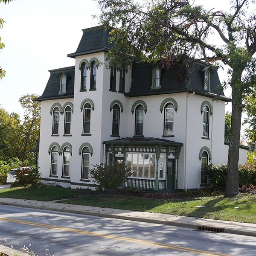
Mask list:
[{"label": "concrete sidewalk with curb between the lawn and the road", "polygon": [[13,198],[0,198],[0,204],[26,207],[34,209],[51,210],[58,212],[71,212],[84,215],[93,215],[105,218],[118,218],[130,221],[164,224],[177,227],[187,227],[199,230],[232,233],[246,236],[256,236],[256,224],[233,221],[219,221],[203,218],[193,218],[153,212],[135,212],[112,208],[81,206],[75,204],[61,204],[55,201],[33,201]]}]

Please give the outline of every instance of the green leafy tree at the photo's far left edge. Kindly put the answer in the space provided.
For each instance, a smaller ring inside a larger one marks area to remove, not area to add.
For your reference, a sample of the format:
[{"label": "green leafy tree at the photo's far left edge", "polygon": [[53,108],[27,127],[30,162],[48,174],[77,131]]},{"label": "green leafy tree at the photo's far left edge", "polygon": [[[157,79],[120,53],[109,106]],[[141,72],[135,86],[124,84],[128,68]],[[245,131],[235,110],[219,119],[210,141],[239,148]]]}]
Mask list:
[{"label": "green leafy tree at the photo's far left edge", "polygon": [[21,134],[20,116],[0,107],[0,160],[20,157]]}]

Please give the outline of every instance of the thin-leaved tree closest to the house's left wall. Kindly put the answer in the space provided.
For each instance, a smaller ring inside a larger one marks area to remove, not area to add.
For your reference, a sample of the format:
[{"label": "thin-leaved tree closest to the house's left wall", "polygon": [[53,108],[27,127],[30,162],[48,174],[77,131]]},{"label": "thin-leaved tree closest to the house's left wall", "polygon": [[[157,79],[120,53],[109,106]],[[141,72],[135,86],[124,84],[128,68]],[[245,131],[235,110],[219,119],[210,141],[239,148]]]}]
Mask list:
[{"label": "thin-leaved tree closest to the house's left wall", "polygon": [[36,94],[26,94],[20,97],[19,102],[24,109],[23,131],[21,138],[22,156],[24,161],[31,154],[29,151],[34,149],[40,132],[41,102],[33,101],[39,97]]}]

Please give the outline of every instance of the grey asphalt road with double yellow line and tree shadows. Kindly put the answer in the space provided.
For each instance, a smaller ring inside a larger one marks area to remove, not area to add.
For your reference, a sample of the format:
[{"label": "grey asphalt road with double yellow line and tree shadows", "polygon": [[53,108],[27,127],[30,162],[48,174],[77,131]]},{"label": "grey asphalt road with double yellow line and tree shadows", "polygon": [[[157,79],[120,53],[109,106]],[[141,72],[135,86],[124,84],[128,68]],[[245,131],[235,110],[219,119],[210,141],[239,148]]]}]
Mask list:
[{"label": "grey asphalt road with double yellow line and tree shadows", "polygon": [[0,242],[38,256],[256,255],[256,237],[4,205]]}]

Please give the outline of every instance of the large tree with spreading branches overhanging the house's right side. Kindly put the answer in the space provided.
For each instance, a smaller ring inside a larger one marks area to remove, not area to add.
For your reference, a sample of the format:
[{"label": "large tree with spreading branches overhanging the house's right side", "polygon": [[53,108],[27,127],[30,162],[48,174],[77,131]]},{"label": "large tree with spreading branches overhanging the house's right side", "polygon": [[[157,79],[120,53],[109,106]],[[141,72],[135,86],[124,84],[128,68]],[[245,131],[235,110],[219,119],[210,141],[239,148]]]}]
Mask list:
[{"label": "large tree with spreading branches overhanging the house's right side", "polygon": [[[144,6],[133,0],[98,3],[102,11],[100,22],[116,27],[110,39],[115,40],[115,45],[108,52],[109,60],[115,57],[113,66],[160,61],[161,67],[175,65],[177,73],[182,73],[188,64],[204,60],[229,67],[228,80],[223,85],[232,90],[226,195],[238,194],[243,98],[252,93],[256,82],[256,15],[247,15],[245,8],[255,0],[230,0],[230,13],[207,11],[189,0],[148,0]],[[218,45],[217,37],[221,41]]]}]

